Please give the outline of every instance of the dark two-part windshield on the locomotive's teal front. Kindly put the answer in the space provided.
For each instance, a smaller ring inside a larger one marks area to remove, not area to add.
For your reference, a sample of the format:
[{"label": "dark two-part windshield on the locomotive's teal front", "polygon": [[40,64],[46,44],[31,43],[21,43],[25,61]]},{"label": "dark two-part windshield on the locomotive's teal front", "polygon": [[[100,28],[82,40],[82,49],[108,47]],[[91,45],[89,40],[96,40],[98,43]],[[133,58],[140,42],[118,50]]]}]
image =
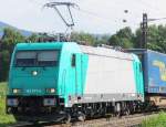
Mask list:
[{"label": "dark two-part windshield on the locomotive's teal front", "polygon": [[59,51],[19,51],[15,66],[54,66],[58,64]]}]

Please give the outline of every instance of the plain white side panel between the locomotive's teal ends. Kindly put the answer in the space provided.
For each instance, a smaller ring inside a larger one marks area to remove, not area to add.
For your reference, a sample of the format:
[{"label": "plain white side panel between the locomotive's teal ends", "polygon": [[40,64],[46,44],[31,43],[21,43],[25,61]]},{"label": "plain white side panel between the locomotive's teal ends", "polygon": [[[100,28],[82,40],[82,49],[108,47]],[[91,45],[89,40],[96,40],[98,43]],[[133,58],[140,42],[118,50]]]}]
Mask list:
[{"label": "plain white side panel between the locomotive's teal ends", "polygon": [[136,93],[133,61],[89,55],[85,93]]}]

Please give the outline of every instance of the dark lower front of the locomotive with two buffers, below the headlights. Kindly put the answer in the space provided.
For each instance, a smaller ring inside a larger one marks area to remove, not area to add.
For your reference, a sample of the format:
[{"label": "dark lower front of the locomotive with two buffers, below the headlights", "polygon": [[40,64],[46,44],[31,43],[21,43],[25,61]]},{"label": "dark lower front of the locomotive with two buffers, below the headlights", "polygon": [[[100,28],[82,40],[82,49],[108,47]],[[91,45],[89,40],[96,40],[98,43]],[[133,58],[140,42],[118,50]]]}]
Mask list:
[{"label": "dark lower front of the locomotive with two buffers, below the headlights", "polygon": [[11,113],[11,109],[30,115],[50,113],[50,109],[59,106],[59,98],[58,96],[8,96],[7,106],[7,113]]}]

